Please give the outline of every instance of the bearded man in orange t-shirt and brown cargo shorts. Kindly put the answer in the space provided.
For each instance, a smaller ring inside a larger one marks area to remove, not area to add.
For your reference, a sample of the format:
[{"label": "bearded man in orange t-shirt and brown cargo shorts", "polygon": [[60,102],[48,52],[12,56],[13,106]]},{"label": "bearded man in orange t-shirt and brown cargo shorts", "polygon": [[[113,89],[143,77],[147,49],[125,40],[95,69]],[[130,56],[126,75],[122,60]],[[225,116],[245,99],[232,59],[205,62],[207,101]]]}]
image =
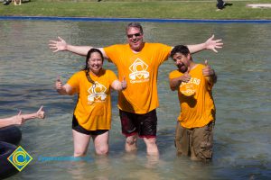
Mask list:
[{"label": "bearded man in orange t-shirt and brown cargo shorts", "polygon": [[178,67],[170,73],[170,87],[178,91],[181,113],[176,125],[177,154],[192,160],[210,160],[212,157],[215,104],[211,88],[216,82],[214,70],[195,64],[186,46],[176,46],[171,52]]}]

